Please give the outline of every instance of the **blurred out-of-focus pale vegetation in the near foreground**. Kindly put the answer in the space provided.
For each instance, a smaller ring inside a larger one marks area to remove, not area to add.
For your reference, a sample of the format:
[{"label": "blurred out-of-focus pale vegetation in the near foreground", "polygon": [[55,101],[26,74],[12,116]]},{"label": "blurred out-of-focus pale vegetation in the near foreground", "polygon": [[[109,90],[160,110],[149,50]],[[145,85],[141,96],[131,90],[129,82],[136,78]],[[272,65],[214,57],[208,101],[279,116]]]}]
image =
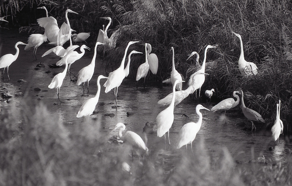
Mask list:
[{"label": "blurred out-of-focus pale vegetation in the near foreground", "polygon": [[[291,185],[292,157],[286,164],[265,159],[236,166],[227,148],[213,160],[204,140],[179,151],[171,167],[159,147],[140,159],[131,148],[109,143],[102,123],[88,120],[68,132],[44,105],[28,106],[22,115],[11,102],[0,114],[0,184],[20,185]],[[29,103],[31,104],[31,103]],[[17,119],[21,119],[20,122]],[[92,121],[92,122],[91,122]],[[257,160],[257,159],[256,159]],[[123,162],[131,166],[123,170]],[[167,164],[167,165],[166,165]]]}]

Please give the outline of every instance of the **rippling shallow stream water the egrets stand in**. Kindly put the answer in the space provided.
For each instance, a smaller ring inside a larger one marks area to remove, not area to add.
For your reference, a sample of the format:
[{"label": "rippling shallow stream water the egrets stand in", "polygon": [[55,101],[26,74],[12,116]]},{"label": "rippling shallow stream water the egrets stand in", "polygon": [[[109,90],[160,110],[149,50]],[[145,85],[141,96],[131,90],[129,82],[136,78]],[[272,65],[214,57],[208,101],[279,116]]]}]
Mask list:
[{"label": "rippling shallow stream water the egrets stand in", "polygon": [[[17,31],[1,30],[1,56],[6,53],[15,54],[14,44],[17,41],[27,42],[27,35],[18,34]],[[9,95],[13,93],[22,92],[29,93],[29,96],[33,100],[41,98],[49,112],[58,117],[60,121],[66,126],[68,131],[74,128],[74,124],[79,121],[83,121],[83,118],[76,118],[76,113],[81,107],[82,103],[87,99],[94,97],[97,91],[96,80],[97,77],[102,74],[105,75],[105,70],[102,66],[101,58],[97,57],[95,65],[95,73],[89,82],[89,94],[87,90],[83,93],[82,86],[76,86],[76,83],[70,81],[69,76],[66,76],[62,87],[60,88],[60,99],[61,105],[54,105],[57,102],[57,94],[55,89],[49,89],[48,85],[51,82],[53,73],[62,72],[64,67],[57,69],[50,69],[47,65],[56,63],[59,58],[54,54],[49,54],[44,58],[41,55],[52,48],[49,44],[41,45],[37,50],[38,60],[34,61],[32,58],[32,49],[30,51],[24,51],[23,45],[19,45],[20,54],[18,59],[12,63],[9,67],[9,75],[11,80],[8,81],[8,77],[5,71],[4,81],[2,75],[0,78],[1,89],[5,88]],[[94,46],[89,46],[94,48]],[[79,48],[77,49],[77,51]],[[137,54],[136,54],[137,55]],[[75,74],[88,65],[93,57],[93,51],[86,50],[85,55],[75,62],[71,66],[71,71]],[[34,70],[39,62],[43,62],[46,65],[45,68]],[[51,73],[47,74],[46,71],[50,70]],[[1,69],[1,74],[3,69]],[[133,73],[133,72],[130,72]],[[18,83],[19,79],[27,81],[27,83]],[[104,84],[106,79],[101,79],[101,86]],[[41,91],[32,91],[33,88],[40,88]],[[86,86],[85,86],[86,87]],[[114,92],[111,91],[107,94],[104,93],[105,88],[102,86],[99,103],[104,102],[105,105],[97,106],[97,114],[91,115],[91,120],[95,119],[96,122],[100,122],[105,131],[112,129],[118,122],[126,123],[126,130],[131,130],[138,133],[143,139],[142,128],[145,126],[147,121],[155,121],[155,118],[159,112],[166,107],[160,107],[157,105],[158,100],[164,98],[166,95],[171,93],[171,86],[146,86],[144,89],[142,84],[136,88],[136,82],[130,79],[124,79],[123,83],[118,89],[118,109],[113,109],[115,102]],[[22,97],[15,99],[16,105],[20,105]],[[177,140],[177,135],[180,128],[191,121],[197,122],[198,116],[195,112],[195,107],[199,102],[194,100],[185,99],[179,105],[175,107],[175,113],[185,113],[190,119],[175,115],[175,120],[170,129],[170,140],[171,145],[164,145],[164,139],[158,138],[157,134],[147,134],[148,148],[159,147],[159,156],[163,157],[166,164],[172,166],[178,158],[180,158],[180,151],[185,151],[185,147],[180,150],[175,150],[174,144]],[[8,103],[0,102],[0,107],[6,107]],[[205,107],[211,109],[213,103],[203,104]],[[133,115],[127,117],[126,112],[132,112]],[[229,123],[221,121],[221,117],[224,112],[212,113],[207,110],[201,110],[203,114],[203,122],[200,131],[197,134],[193,144],[199,142],[199,140],[205,140],[205,148],[213,159],[220,158],[221,150],[223,147],[227,147],[234,160],[242,163],[248,162],[249,160],[257,157],[265,157],[273,161],[285,162],[285,156],[289,149],[292,149],[291,144],[287,144],[280,136],[279,145],[274,145],[271,138],[271,132],[265,130],[265,124],[256,124],[256,132],[246,130],[246,127],[251,127],[251,123],[245,122],[245,124],[239,124],[244,121],[244,116],[240,113],[239,107],[232,111],[226,112],[226,118]],[[106,117],[104,114],[113,113],[114,117]],[[117,135],[117,133],[115,133]],[[168,141],[166,139],[166,141]],[[194,146],[194,145],[193,145]],[[274,150],[269,151],[269,147],[273,146]],[[190,151],[190,145],[188,145],[188,151]],[[254,154],[253,154],[253,153]]]}]

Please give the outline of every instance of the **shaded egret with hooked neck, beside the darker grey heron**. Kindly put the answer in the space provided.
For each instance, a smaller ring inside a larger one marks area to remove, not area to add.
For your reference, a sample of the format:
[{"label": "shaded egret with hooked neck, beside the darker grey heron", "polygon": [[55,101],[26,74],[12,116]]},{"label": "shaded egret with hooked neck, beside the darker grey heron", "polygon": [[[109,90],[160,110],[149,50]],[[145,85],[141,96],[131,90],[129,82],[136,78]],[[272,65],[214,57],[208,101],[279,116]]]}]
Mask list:
[{"label": "shaded egret with hooked neck, beside the darker grey heron", "polygon": [[233,98],[227,98],[225,100],[220,101],[217,105],[211,108],[211,111],[215,112],[217,110],[225,110],[224,115],[226,113],[226,110],[232,109],[233,107],[236,107],[239,103],[239,91],[233,91],[233,97],[236,98],[236,101],[234,101]]}]

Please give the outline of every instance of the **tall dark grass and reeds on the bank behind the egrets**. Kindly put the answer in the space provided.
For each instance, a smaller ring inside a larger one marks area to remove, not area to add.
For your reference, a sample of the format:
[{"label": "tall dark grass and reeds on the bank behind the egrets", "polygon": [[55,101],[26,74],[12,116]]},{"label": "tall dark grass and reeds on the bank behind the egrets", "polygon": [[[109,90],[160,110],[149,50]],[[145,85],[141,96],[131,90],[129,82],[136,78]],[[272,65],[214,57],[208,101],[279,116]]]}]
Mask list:
[{"label": "tall dark grass and reeds on the bank behind the egrets", "polygon": [[[107,24],[99,17],[113,18],[110,28],[121,28],[122,34],[116,48],[100,48],[108,59],[108,72],[119,65],[128,41],[141,40],[150,43],[158,55],[159,80],[170,76],[171,46],[175,49],[176,69],[188,80],[196,66],[194,60],[186,61],[187,54],[197,51],[203,58],[206,45],[218,44],[217,49],[208,52],[206,72],[210,75],[202,90],[214,88],[217,98],[223,99],[238,87],[243,88],[246,105],[262,114],[268,127],[273,124],[276,103],[281,99],[284,133],[292,132],[291,1],[10,0],[1,1],[1,16],[12,15],[7,20],[17,21],[16,26],[27,26],[36,23],[36,7],[43,5],[60,23],[67,8],[77,11],[80,15],[70,15],[71,27],[78,32],[91,32],[95,39],[101,25]],[[34,13],[28,15],[27,11]],[[241,77],[237,67],[239,40],[231,31],[241,35],[246,60],[259,67],[256,79]],[[144,51],[143,46],[133,49]],[[135,77],[143,60],[144,57],[133,59],[130,77]]]}]

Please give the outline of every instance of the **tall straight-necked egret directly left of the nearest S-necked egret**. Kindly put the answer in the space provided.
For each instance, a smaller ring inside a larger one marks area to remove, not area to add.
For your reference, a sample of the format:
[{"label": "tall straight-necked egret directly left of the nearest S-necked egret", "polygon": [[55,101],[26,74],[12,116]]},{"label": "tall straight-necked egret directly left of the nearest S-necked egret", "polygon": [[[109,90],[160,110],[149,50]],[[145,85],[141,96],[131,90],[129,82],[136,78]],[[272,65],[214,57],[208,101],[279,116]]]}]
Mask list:
[{"label": "tall straight-necked egret directly left of the nearest S-necked egret", "polygon": [[169,140],[169,129],[172,126],[173,120],[174,120],[174,116],[173,116],[173,110],[174,110],[174,101],[175,101],[175,87],[178,83],[182,83],[185,81],[182,80],[175,80],[174,84],[173,84],[173,88],[172,88],[172,99],[171,99],[171,103],[170,105],[164,109],[163,111],[161,111],[157,117],[156,117],[156,123],[157,123],[157,136],[158,137],[162,137],[164,135],[164,143],[165,139],[166,139],[166,132],[168,131],[168,142],[170,144],[170,140]]}]

